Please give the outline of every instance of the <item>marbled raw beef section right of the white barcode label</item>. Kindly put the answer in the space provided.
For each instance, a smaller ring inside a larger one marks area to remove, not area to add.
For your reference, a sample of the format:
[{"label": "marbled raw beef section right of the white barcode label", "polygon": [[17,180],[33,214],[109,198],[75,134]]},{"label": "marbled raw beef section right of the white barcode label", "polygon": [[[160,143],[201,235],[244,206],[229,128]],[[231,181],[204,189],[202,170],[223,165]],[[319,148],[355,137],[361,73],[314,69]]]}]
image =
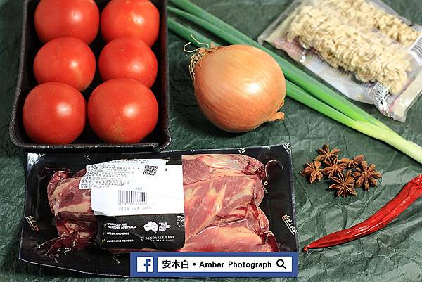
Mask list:
[{"label": "marbled raw beef section right of the white barcode label", "polygon": [[[184,156],[185,252],[278,250],[264,196],[264,165],[245,155]],[[191,168],[191,169],[190,169]]]}]

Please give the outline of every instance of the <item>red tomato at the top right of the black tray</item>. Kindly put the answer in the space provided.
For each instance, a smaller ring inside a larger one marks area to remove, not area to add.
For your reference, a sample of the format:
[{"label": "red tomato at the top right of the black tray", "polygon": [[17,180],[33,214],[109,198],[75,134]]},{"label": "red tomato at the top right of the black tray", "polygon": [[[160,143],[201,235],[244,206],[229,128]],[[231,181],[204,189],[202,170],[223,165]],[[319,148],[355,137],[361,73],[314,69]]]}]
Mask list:
[{"label": "red tomato at the top right of the black tray", "polygon": [[101,33],[108,42],[139,37],[149,46],[158,38],[160,13],[148,0],[111,0],[101,12]]}]

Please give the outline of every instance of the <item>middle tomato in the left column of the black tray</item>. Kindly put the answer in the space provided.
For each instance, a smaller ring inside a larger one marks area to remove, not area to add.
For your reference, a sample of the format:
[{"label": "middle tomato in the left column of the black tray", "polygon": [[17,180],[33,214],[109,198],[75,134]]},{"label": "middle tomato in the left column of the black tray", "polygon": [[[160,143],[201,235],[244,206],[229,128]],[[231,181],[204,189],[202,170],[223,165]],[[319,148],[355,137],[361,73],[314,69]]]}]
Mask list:
[{"label": "middle tomato in the left column of the black tray", "polygon": [[82,91],[94,79],[94,53],[84,41],[60,37],[39,49],[34,60],[34,75],[39,84],[63,82]]}]

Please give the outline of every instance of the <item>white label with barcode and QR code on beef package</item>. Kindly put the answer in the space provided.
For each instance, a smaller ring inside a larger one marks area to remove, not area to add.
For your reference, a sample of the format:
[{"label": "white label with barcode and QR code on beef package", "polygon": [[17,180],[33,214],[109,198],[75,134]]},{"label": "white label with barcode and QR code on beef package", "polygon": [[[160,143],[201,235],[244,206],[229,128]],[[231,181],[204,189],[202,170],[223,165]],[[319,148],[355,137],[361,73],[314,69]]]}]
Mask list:
[{"label": "white label with barcode and QR code on beef package", "polygon": [[96,215],[183,214],[182,167],[166,162],[134,159],[87,165],[79,189],[91,189]]}]

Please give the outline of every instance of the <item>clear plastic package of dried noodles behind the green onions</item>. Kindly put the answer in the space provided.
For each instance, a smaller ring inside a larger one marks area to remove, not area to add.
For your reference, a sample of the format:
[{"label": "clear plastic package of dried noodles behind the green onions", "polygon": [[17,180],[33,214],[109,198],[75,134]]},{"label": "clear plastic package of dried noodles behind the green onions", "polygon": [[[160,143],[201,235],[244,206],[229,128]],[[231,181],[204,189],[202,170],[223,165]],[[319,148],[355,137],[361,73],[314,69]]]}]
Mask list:
[{"label": "clear plastic package of dried noodles behind the green onions", "polygon": [[404,122],[422,91],[422,27],[378,0],[295,0],[259,37],[345,96]]}]

